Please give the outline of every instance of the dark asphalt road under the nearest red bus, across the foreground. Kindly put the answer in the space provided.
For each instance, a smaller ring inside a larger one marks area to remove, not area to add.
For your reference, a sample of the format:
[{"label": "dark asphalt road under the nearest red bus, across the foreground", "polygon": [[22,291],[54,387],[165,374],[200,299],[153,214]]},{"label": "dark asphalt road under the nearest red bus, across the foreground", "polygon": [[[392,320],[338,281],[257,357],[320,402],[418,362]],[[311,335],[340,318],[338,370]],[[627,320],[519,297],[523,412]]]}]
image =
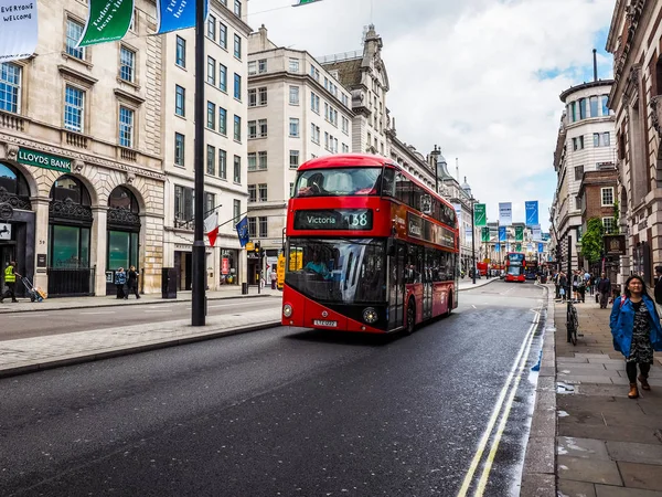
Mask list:
[{"label": "dark asphalt road under the nearest red bus, across the foreground", "polygon": [[284,327],[0,380],[0,495],[517,495],[542,297],[495,282],[410,337]]}]

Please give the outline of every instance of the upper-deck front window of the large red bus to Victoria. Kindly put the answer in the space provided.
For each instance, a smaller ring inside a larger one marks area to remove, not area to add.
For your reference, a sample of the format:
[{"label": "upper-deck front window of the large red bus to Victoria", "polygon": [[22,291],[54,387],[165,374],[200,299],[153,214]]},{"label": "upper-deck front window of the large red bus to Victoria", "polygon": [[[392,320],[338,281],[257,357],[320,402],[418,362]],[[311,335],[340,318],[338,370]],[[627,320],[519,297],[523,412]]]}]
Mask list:
[{"label": "upper-deck front window of the large red bus to Victoria", "polygon": [[295,197],[378,195],[382,168],[309,169],[297,178]]}]

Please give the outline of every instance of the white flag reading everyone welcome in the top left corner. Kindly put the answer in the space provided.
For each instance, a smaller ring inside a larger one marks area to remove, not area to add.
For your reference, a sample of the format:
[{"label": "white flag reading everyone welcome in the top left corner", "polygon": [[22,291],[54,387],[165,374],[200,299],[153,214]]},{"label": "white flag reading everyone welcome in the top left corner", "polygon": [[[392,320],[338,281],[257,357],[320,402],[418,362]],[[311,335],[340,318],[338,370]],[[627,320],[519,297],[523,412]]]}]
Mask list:
[{"label": "white flag reading everyone welcome in the top left corner", "polygon": [[0,64],[28,59],[34,53],[36,3],[0,0]]}]

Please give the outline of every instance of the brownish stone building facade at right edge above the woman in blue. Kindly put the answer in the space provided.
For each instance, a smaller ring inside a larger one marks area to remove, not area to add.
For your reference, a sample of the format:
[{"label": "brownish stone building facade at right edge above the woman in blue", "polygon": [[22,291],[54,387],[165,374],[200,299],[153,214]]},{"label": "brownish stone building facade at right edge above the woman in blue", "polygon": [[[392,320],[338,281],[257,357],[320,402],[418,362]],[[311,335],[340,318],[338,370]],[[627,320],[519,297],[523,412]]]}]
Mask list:
[{"label": "brownish stone building facade at right edge above the woman in blue", "polygon": [[662,3],[617,0],[607,50],[613,54],[619,228],[628,244],[621,279],[634,272],[652,283],[662,264]]}]

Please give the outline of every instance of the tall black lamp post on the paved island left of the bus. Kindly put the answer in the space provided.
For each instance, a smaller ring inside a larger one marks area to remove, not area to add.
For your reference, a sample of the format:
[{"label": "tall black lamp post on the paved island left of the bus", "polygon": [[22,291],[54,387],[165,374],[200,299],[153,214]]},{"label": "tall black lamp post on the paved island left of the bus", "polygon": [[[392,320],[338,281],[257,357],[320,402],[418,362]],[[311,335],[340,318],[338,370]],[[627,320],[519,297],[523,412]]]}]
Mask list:
[{"label": "tall black lamp post on the paved island left of the bus", "polygon": [[193,148],[193,170],[195,171],[195,203],[193,281],[191,286],[191,325],[205,325],[205,248],[204,248],[204,0],[195,0],[195,145]]}]

